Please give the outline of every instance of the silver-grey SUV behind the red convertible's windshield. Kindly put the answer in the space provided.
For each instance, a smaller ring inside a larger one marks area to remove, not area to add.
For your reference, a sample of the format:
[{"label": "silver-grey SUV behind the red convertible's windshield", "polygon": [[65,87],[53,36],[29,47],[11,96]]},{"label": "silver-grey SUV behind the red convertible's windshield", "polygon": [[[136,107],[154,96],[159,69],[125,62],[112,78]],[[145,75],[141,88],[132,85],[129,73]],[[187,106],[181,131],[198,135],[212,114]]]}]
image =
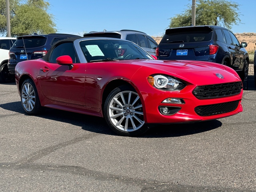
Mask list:
[{"label": "silver-grey SUV behind the red convertible's windshield", "polygon": [[118,39],[126,39],[139,45],[142,49],[151,55],[156,54],[157,42],[144,32],[136,30],[120,30],[120,31],[92,31],[85,33],[84,37],[111,37]]}]

